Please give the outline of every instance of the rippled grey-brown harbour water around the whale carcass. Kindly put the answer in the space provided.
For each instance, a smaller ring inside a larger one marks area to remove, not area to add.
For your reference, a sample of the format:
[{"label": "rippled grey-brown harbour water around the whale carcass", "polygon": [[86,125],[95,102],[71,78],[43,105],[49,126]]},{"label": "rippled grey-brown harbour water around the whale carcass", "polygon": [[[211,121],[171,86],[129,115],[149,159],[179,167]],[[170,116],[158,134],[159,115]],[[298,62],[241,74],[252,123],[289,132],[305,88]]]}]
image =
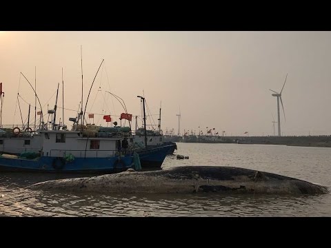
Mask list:
[{"label": "rippled grey-brown harbour water around the whale carcass", "polygon": [[[331,187],[330,148],[195,143],[177,146],[177,153],[189,159],[167,156],[163,169],[181,165],[235,166]],[[66,194],[24,188],[68,177],[1,172],[0,216],[331,216],[331,194]]]}]

